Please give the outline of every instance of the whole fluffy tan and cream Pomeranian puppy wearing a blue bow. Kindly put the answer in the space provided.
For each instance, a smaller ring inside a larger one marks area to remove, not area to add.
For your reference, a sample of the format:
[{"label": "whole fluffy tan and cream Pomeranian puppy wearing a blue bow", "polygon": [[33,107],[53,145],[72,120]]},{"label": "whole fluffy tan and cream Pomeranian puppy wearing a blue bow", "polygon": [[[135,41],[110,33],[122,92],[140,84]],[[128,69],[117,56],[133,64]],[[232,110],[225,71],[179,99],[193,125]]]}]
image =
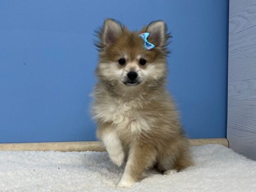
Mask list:
[{"label": "whole fluffy tan and cream Pomeranian puppy wearing a blue bow", "polygon": [[172,172],[192,165],[189,142],[165,87],[166,32],[162,20],[131,32],[113,19],[97,31],[99,81],[92,112],[112,162],[121,166],[127,160],[117,187],[132,186],[153,166]]}]

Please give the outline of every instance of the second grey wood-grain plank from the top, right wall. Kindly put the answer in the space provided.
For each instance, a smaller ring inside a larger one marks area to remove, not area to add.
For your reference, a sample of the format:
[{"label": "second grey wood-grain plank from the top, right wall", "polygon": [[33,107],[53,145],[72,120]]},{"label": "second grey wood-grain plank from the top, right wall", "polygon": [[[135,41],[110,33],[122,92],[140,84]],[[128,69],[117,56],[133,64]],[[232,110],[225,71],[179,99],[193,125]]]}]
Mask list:
[{"label": "second grey wood-grain plank from the top, right wall", "polygon": [[256,79],[256,26],[229,38],[228,81]]}]

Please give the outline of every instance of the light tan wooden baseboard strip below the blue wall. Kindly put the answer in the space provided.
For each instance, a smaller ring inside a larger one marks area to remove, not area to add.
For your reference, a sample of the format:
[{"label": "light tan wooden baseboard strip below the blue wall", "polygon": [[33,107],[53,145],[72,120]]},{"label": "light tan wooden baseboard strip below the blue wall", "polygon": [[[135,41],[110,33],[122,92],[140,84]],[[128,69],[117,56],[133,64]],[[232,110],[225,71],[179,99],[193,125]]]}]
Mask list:
[{"label": "light tan wooden baseboard strip below the blue wall", "polygon": [[[191,145],[220,144],[228,147],[226,138],[189,139]],[[0,143],[0,151],[105,151],[99,141]]]}]

